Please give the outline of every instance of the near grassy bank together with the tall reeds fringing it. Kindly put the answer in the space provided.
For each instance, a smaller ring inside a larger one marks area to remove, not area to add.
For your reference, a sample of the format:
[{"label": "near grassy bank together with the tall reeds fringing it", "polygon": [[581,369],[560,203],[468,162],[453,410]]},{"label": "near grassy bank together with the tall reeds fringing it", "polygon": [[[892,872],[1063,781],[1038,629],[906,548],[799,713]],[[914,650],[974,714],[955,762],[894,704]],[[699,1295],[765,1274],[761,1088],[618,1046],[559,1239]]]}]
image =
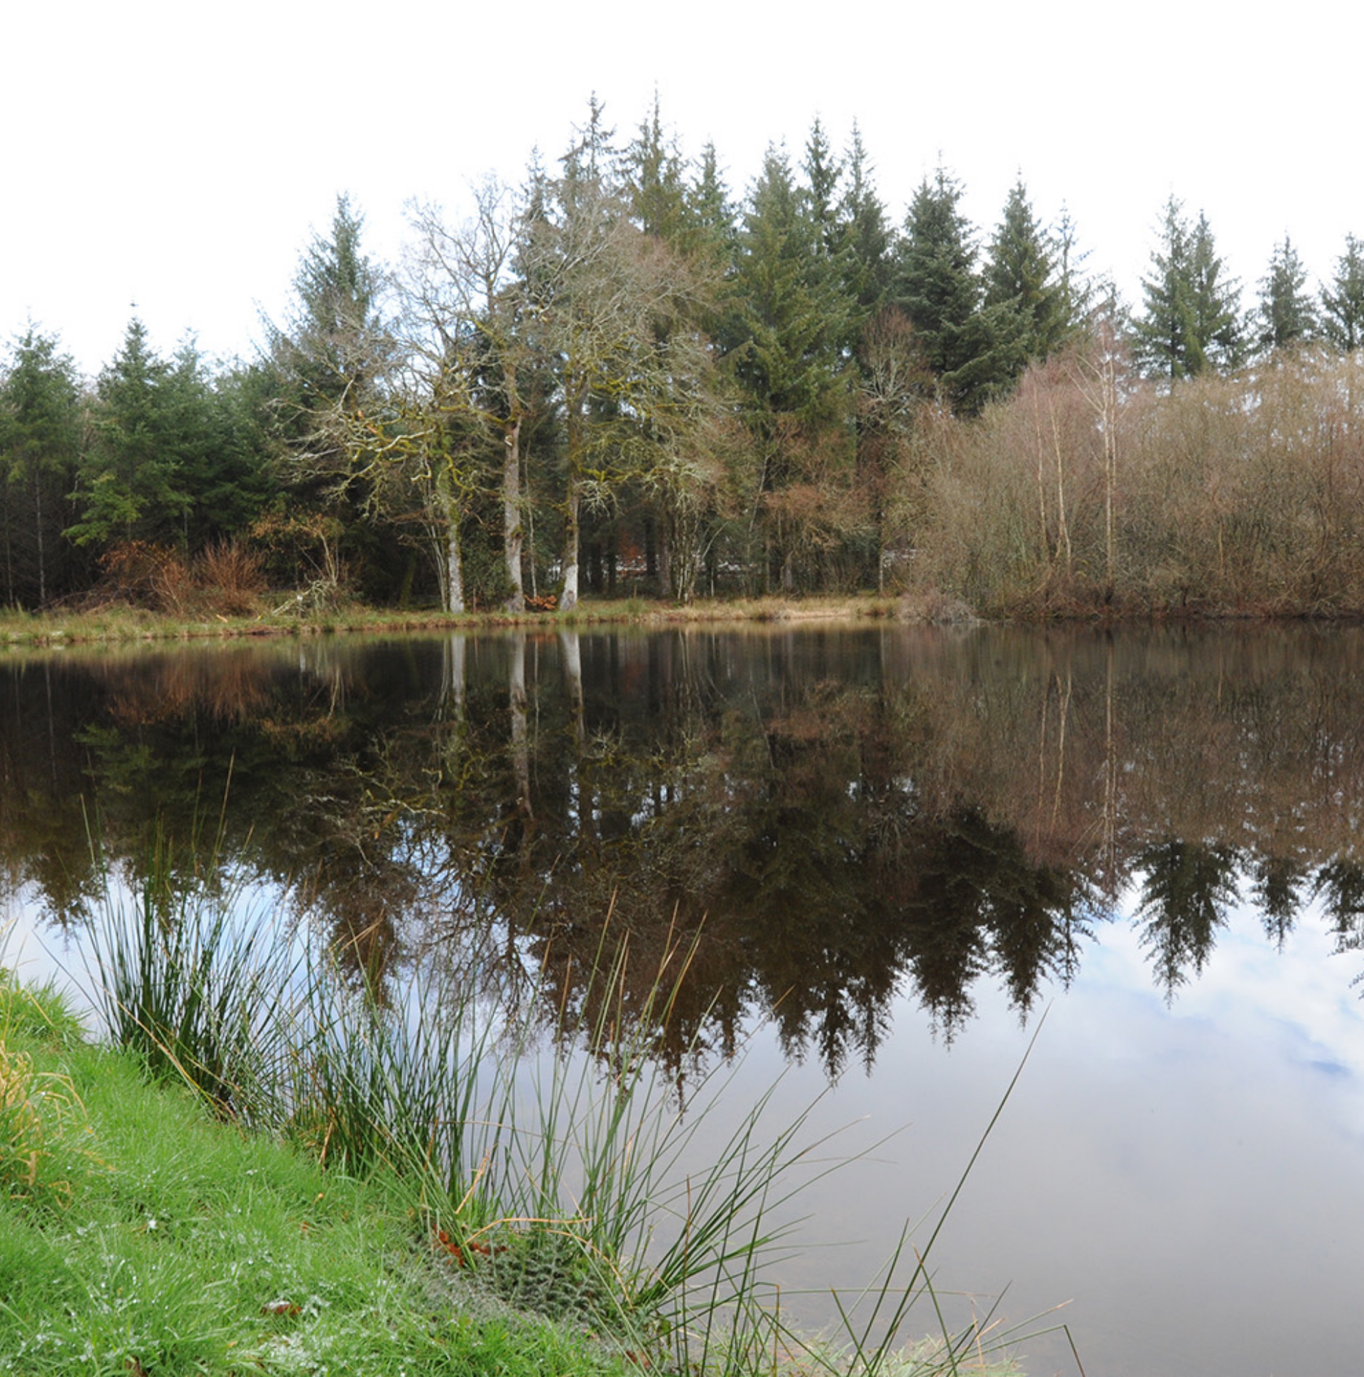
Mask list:
[{"label": "near grassy bank together with the tall reeds fringing it", "polygon": [[567,1056],[534,976],[489,991],[427,965],[380,1008],[228,901],[149,883],[107,914],[105,1044],[52,990],[0,982],[6,1370],[1012,1370],[1017,1334],[941,1323],[936,1234],[840,1301],[837,1336],[787,1327],[775,1220],[826,1144],[758,1103],[698,1161],[724,1086],[683,1114],[654,1073],[666,971],[628,1011],[624,957],[604,963]]}]

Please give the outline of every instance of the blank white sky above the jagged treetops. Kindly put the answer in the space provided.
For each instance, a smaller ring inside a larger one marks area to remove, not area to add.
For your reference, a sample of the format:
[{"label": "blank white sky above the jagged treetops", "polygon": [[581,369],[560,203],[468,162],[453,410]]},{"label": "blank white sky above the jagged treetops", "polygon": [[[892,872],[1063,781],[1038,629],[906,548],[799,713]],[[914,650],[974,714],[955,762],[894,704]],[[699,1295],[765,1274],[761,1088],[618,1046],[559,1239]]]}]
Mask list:
[{"label": "blank white sky above the jagged treetops", "polygon": [[209,354],[248,353],[339,190],[370,252],[396,257],[409,197],[457,207],[487,171],[519,182],[593,91],[624,142],[655,87],[683,151],[714,139],[736,194],[768,142],[800,154],[815,114],[838,147],[857,120],[896,222],[941,157],[988,234],[1021,171],[1038,213],[1067,202],[1087,266],[1133,300],[1174,193],[1207,211],[1248,300],[1286,231],[1317,277],[1364,234],[1361,14],[10,0],[0,339],[32,317],[94,373],[136,303],[161,350],[194,330]]}]

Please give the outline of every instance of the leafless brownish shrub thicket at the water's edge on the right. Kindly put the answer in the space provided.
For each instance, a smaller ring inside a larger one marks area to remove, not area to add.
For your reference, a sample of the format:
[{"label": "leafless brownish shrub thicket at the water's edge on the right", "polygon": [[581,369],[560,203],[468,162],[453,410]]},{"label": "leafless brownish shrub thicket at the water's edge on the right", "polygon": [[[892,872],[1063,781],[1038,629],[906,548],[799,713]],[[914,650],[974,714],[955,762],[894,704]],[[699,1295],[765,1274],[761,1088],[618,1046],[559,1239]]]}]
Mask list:
[{"label": "leafless brownish shrub thicket at the water's edge on the right", "polygon": [[1303,351],[1105,401],[1083,354],[1035,366],[935,437],[917,581],[1024,616],[1364,610],[1361,384]]}]

